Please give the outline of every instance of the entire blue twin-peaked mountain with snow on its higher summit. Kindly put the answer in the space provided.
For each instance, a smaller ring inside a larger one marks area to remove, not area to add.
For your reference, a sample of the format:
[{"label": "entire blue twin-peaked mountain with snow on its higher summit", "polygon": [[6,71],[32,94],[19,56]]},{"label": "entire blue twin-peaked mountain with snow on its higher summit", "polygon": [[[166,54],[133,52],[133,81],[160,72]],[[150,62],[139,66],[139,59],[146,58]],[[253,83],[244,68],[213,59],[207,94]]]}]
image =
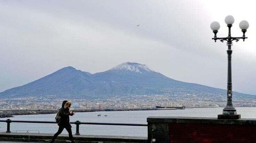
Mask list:
[{"label": "entire blue twin-peaked mountain with snow on its higher summit", "polygon": [[174,80],[149,69],[144,64],[126,62],[95,74],[68,66],[23,86],[3,91],[0,96],[98,97],[129,94],[212,96],[226,95],[226,90]]}]

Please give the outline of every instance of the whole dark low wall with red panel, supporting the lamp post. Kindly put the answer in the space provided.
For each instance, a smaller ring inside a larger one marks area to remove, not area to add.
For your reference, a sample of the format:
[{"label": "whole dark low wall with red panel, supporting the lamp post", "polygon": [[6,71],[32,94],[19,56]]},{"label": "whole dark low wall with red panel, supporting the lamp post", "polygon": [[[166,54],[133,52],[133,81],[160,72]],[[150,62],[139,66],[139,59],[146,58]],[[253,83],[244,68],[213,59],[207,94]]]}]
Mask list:
[{"label": "whole dark low wall with red panel, supporting the lamp post", "polygon": [[149,143],[253,143],[256,119],[148,117]]}]

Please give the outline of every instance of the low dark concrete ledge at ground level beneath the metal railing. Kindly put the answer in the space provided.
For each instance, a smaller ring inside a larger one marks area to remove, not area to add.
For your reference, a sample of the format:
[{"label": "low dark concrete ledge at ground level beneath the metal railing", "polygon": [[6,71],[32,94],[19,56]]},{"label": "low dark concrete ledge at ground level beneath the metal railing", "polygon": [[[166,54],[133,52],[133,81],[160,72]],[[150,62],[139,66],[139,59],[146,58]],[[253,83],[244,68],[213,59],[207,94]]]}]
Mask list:
[{"label": "low dark concrete ledge at ground level beneath the metal railing", "polygon": [[[49,142],[54,134],[41,133],[1,133],[0,141]],[[73,135],[76,143],[146,143],[147,137]],[[68,135],[60,134],[55,142],[66,142]]]}]

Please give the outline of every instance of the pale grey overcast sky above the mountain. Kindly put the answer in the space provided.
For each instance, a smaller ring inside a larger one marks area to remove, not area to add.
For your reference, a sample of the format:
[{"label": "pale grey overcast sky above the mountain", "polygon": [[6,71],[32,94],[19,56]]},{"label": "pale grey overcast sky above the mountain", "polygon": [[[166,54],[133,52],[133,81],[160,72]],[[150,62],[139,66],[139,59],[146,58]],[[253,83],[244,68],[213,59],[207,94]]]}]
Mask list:
[{"label": "pale grey overcast sky above the mountain", "polygon": [[[256,95],[254,1],[75,0],[0,1],[0,91],[65,66],[90,73],[123,62],[146,64],[167,77],[226,89],[227,46],[210,29],[233,15],[233,90]],[[139,27],[136,25],[140,24]],[[254,35],[253,35],[254,34]]]}]

